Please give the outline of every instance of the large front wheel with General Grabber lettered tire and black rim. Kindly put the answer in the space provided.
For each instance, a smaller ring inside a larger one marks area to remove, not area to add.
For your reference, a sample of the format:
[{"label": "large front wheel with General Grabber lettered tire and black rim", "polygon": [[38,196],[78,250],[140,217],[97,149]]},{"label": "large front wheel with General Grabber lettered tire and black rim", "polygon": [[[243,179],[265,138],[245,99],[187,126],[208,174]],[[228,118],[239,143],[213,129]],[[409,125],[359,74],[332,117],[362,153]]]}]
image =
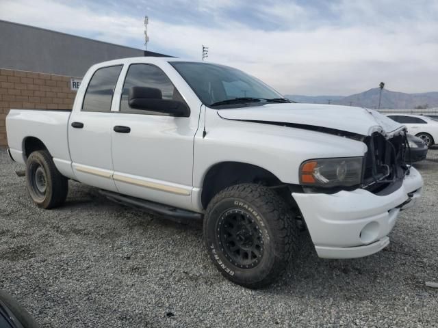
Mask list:
[{"label": "large front wheel with General Grabber lettered tire and black rim", "polygon": [[207,207],[204,238],[220,273],[247,288],[272,284],[298,248],[292,211],[272,189],[258,184],[220,191]]}]

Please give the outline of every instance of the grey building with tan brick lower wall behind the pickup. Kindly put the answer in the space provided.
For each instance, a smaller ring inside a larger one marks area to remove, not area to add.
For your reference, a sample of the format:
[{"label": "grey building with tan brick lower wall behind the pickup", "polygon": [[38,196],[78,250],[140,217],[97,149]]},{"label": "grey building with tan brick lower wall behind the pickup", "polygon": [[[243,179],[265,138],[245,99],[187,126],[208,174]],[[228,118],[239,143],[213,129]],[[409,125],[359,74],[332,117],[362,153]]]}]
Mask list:
[{"label": "grey building with tan brick lower wall behind the pickup", "polygon": [[0,146],[11,108],[71,109],[93,64],[123,57],[169,57],[0,20]]}]

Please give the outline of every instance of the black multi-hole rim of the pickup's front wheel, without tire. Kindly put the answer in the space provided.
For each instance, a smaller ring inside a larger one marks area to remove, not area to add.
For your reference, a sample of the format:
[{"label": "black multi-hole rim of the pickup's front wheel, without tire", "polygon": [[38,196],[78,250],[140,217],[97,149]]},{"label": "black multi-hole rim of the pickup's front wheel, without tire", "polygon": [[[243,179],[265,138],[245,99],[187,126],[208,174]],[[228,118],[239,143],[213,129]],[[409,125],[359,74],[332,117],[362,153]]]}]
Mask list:
[{"label": "black multi-hole rim of the pickup's front wheel, without tire", "polygon": [[244,210],[224,212],[217,224],[218,241],[224,256],[240,269],[252,269],[263,258],[263,233],[257,219]]}]

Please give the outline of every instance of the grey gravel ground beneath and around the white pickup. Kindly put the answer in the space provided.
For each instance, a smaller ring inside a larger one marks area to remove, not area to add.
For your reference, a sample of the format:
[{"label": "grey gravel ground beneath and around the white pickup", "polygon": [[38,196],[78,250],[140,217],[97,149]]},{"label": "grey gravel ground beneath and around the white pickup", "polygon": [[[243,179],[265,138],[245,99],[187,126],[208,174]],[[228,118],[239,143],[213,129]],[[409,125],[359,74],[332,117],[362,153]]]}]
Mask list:
[{"label": "grey gravel ground beneath and around the white pickup", "polygon": [[24,178],[0,155],[0,288],[42,327],[438,327],[438,148],[416,165],[420,206],[391,243],[355,260],[300,254],[263,290],[231,284],[183,226],[105,200],[70,182],[62,208],[31,203]]}]

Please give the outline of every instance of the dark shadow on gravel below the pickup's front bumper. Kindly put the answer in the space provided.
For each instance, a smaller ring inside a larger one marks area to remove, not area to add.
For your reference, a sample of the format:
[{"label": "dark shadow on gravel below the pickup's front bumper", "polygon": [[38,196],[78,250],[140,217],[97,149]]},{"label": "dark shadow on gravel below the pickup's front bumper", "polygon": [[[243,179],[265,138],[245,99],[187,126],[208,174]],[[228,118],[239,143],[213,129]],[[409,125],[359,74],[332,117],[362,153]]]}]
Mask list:
[{"label": "dark shadow on gravel below the pickup's front bumper", "polygon": [[328,260],[318,258],[309,234],[304,232],[296,260],[286,275],[265,292],[329,301],[372,301],[376,293],[394,297],[394,292],[397,297],[414,293],[421,298],[437,292],[424,286],[425,280],[437,279],[436,275],[427,276],[438,272],[436,261],[425,260],[409,241],[403,243],[398,236],[390,238],[389,246],[372,256]]}]

